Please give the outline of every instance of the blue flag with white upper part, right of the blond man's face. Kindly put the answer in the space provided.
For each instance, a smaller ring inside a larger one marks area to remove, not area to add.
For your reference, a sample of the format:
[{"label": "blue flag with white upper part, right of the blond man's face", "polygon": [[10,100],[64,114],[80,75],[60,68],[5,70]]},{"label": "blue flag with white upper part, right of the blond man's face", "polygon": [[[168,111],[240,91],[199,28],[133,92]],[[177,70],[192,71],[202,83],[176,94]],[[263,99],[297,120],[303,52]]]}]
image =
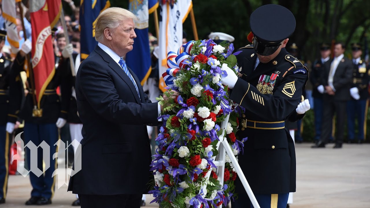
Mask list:
[{"label": "blue flag with white upper part, right of the blond man's face", "polygon": [[149,49],[149,14],[158,8],[158,0],[129,0],[129,10],[139,17],[135,22],[136,38],[132,51],[126,54],[126,64],[139,78],[141,85],[147,81],[151,73]]}]

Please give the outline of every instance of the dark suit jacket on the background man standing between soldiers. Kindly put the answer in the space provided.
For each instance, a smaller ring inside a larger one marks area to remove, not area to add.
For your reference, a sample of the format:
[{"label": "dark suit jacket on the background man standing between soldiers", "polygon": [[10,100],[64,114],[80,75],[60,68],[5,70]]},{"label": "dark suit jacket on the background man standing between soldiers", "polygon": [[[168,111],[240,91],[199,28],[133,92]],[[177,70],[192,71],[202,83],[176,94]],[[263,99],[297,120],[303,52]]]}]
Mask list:
[{"label": "dark suit jacket on the background man standing between soldiers", "polygon": [[[324,86],[328,85],[329,79],[329,71],[330,65],[332,64],[333,59],[326,61],[323,67],[323,73],[321,77],[321,84]],[[347,58],[342,58],[339,61],[337,69],[334,73],[333,77],[333,87],[335,88],[335,95],[330,96],[334,98],[334,100],[338,101],[346,101],[350,100],[351,95],[349,93],[349,89],[351,88],[351,80],[352,80],[352,73],[353,73],[353,64],[352,61],[348,60]],[[327,95],[327,94],[326,94]]]}]

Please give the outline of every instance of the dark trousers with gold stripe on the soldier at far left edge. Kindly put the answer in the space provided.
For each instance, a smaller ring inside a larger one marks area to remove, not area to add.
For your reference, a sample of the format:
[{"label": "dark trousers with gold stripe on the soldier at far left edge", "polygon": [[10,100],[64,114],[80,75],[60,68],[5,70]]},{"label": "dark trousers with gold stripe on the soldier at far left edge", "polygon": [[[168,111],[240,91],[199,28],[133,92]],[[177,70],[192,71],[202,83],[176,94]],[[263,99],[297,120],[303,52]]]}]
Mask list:
[{"label": "dark trousers with gold stripe on the soldier at far left edge", "polygon": [[9,150],[14,142],[5,129],[6,125],[0,125],[0,198],[6,198],[9,176]]}]

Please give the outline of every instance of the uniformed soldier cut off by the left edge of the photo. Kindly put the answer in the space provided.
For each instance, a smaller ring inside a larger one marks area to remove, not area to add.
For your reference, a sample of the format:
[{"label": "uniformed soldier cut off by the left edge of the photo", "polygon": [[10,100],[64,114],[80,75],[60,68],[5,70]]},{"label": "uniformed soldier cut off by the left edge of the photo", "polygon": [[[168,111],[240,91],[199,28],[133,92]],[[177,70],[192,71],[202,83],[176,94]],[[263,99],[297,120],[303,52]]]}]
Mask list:
[{"label": "uniformed soldier cut off by the left edge of the photo", "polygon": [[[6,31],[0,30],[0,51],[5,43]],[[8,188],[9,149],[22,99],[19,74],[11,70],[10,55],[0,53],[0,204],[5,203]]]}]

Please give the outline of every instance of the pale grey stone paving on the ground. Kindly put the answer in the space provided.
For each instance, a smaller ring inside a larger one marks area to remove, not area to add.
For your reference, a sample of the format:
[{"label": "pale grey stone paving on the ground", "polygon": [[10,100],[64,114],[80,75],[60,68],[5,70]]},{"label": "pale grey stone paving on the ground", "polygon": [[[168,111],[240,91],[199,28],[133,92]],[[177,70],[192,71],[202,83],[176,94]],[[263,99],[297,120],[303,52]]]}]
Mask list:
[{"label": "pale grey stone paving on the ground", "polygon": [[[311,149],[297,144],[297,192],[292,208],[370,208],[370,144],[344,145],[334,150]],[[75,196],[67,187],[55,191],[53,204],[44,208],[71,207]],[[9,178],[7,203],[0,207],[24,208],[30,196],[29,179],[20,175]],[[147,207],[158,207],[149,204]],[[28,207],[28,206],[27,206]]]}]

